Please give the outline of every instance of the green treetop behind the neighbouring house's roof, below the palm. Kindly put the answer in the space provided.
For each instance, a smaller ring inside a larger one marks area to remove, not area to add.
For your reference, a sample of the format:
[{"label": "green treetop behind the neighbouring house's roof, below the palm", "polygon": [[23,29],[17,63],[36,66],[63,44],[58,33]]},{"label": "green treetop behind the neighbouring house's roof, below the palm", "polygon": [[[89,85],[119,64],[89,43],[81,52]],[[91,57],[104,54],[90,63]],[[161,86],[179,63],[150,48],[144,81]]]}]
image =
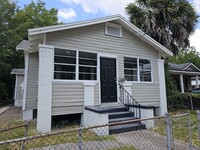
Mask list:
[{"label": "green treetop behind the neighbouring house's roof, below the palm", "polygon": [[177,56],[169,58],[169,62],[182,64],[192,62],[194,65],[200,68],[200,53],[196,51],[194,47],[189,50],[180,50]]}]

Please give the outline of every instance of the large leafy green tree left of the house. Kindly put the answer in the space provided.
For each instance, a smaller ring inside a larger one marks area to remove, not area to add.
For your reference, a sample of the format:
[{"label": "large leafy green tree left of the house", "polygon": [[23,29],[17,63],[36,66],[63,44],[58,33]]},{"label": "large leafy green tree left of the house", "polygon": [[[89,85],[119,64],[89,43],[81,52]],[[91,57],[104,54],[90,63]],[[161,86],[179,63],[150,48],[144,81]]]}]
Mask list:
[{"label": "large leafy green tree left of the house", "polygon": [[28,39],[29,28],[58,24],[57,9],[47,10],[41,0],[20,9],[11,0],[0,0],[0,103],[12,98],[13,68],[23,67],[23,52],[16,45]]}]

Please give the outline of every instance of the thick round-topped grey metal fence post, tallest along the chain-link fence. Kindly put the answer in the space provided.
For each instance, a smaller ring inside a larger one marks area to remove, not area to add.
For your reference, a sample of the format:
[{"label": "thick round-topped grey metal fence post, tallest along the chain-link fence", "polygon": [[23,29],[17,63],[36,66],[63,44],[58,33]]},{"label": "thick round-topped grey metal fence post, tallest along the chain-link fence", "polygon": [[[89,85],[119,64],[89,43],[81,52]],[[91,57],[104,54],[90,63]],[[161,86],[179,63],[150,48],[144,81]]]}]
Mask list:
[{"label": "thick round-topped grey metal fence post, tallest along the chain-link fence", "polygon": [[166,119],[167,150],[171,150],[172,149],[171,117],[168,113],[165,114],[165,119]]}]

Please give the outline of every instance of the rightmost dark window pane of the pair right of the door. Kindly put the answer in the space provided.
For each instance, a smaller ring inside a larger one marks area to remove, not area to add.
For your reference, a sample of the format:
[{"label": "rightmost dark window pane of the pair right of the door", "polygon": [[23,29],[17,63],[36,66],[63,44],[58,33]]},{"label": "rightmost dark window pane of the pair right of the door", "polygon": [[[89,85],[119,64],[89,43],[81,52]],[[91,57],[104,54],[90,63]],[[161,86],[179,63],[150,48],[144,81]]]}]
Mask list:
[{"label": "rightmost dark window pane of the pair right of the door", "polygon": [[140,81],[151,82],[151,62],[147,59],[139,59]]}]

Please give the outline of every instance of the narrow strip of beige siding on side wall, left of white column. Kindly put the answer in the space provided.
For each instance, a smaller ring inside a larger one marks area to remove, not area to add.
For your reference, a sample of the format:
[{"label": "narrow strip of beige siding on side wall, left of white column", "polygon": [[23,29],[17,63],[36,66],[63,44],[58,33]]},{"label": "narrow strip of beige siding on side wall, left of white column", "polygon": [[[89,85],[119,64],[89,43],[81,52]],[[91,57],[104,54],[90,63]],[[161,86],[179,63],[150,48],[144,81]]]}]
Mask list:
[{"label": "narrow strip of beige siding on side wall, left of white column", "polygon": [[28,66],[28,80],[27,80],[26,109],[36,109],[37,97],[38,97],[38,68],[39,68],[38,52],[29,53],[28,64],[29,66]]}]

